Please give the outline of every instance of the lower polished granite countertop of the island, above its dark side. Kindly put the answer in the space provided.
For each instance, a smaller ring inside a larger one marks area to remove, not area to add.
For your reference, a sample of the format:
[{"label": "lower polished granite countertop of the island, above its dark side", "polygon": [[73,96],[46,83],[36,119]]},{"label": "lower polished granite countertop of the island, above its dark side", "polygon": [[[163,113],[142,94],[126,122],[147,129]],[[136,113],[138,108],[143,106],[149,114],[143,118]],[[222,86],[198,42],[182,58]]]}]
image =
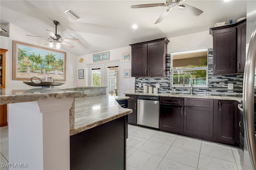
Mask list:
[{"label": "lower polished granite countertop of the island, above its dark side", "polygon": [[70,136],[132,113],[132,109],[122,108],[115,98],[119,97],[104,95],[75,98],[74,124],[70,122]]}]

